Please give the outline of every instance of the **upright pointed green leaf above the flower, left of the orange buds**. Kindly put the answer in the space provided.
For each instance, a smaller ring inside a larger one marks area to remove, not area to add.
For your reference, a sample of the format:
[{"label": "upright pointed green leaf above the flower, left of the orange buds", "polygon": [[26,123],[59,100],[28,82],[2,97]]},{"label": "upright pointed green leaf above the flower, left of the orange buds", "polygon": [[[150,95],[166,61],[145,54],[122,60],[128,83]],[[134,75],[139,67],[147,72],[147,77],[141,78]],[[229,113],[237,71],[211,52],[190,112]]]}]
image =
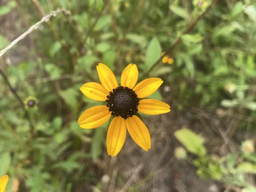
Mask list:
[{"label": "upright pointed green leaf above the flower, left of the orange buds", "polygon": [[147,68],[150,68],[161,57],[161,52],[162,49],[158,39],[153,37],[146,51],[145,65]]}]

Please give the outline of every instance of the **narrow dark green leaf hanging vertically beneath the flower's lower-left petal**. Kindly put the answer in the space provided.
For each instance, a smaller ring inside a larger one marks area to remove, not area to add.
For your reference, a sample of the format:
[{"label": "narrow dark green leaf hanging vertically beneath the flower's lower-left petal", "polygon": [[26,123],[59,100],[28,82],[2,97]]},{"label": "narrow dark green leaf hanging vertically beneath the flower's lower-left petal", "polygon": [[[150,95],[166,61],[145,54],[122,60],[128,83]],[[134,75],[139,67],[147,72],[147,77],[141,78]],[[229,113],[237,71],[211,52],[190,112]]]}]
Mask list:
[{"label": "narrow dark green leaf hanging vertically beneath the flower's lower-left petal", "polygon": [[103,128],[95,129],[95,134],[93,136],[92,145],[91,145],[91,154],[94,160],[96,160],[98,156],[101,154],[101,144],[104,138],[103,134],[104,134]]}]

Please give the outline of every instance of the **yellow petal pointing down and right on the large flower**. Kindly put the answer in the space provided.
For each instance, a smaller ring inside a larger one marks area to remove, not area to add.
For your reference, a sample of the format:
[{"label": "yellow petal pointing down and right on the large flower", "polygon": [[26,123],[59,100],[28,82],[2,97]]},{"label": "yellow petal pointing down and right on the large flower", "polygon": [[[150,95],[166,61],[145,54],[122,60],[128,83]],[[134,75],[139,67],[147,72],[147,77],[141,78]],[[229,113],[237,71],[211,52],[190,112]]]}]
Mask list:
[{"label": "yellow petal pointing down and right on the large flower", "polygon": [[148,151],[151,147],[150,135],[147,127],[140,118],[136,115],[128,117],[126,119],[126,127],[135,143],[145,151]]}]

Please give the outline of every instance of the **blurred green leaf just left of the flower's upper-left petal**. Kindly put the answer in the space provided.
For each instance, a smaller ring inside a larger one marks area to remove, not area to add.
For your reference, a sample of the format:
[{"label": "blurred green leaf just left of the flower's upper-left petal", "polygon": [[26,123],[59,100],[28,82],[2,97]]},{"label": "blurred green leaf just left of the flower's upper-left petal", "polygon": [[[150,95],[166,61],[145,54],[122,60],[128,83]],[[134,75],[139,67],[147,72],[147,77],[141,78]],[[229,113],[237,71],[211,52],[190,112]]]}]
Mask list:
[{"label": "blurred green leaf just left of the flower's upper-left petal", "polygon": [[68,105],[73,108],[77,106],[78,91],[76,89],[69,88],[66,90],[62,90],[59,92],[59,94]]}]

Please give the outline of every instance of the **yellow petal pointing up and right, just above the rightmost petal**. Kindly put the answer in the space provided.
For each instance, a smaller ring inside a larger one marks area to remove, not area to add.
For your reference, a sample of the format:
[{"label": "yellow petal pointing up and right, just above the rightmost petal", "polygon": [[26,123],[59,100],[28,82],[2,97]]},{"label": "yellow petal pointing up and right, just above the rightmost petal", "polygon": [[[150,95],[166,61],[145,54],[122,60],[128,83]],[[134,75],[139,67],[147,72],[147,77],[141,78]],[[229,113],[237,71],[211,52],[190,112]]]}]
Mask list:
[{"label": "yellow petal pointing up and right, just above the rightmost petal", "polygon": [[148,78],[136,85],[133,90],[139,98],[148,97],[153,94],[162,85],[163,81],[160,78]]}]

